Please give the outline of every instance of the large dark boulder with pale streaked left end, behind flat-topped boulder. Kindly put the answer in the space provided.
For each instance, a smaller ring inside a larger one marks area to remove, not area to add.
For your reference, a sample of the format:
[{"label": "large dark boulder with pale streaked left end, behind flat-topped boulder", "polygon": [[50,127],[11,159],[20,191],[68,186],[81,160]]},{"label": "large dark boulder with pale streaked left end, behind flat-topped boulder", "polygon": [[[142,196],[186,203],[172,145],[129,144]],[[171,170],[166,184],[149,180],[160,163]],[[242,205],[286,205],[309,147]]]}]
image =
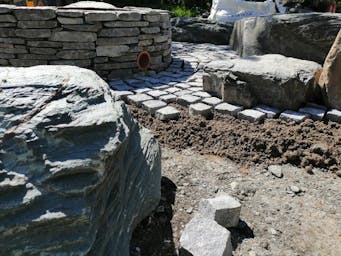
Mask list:
[{"label": "large dark boulder with pale streaked left end, behind flat-topped boulder", "polygon": [[241,56],[278,53],[322,64],[340,24],[340,13],[251,17],[234,24],[230,44]]}]

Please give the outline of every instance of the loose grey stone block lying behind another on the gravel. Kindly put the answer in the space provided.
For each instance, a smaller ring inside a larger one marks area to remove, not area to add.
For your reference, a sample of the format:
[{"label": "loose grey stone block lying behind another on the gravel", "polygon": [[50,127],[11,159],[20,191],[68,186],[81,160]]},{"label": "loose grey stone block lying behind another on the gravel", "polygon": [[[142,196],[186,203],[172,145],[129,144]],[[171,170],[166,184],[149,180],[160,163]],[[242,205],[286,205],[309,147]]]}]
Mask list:
[{"label": "loose grey stone block lying behind another on the gravel", "polygon": [[227,194],[221,194],[215,198],[202,199],[199,203],[198,215],[230,228],[238,226],[240,210],[239,201]]}]

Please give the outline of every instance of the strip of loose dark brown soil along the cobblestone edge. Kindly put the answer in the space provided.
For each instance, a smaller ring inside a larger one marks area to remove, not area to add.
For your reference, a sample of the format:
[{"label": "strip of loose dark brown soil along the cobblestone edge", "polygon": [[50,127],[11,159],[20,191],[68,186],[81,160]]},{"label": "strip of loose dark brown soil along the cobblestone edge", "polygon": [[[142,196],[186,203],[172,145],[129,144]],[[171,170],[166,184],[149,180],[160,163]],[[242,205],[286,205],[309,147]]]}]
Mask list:
[{"label": "strip of loose dark brown soil along the cobblestone edge", "polygon": [[200,154],[226,157],[246,167],[290,163],[332,171],[341,165],[341,125],[306,120],[301,124],[279,119],[255,124],[232,116],[212,120],[191,117],[181,109],[177,121],[162,122],[130,106],[133,116],[152,130],[161,144],[172,149],[191,148]]}]

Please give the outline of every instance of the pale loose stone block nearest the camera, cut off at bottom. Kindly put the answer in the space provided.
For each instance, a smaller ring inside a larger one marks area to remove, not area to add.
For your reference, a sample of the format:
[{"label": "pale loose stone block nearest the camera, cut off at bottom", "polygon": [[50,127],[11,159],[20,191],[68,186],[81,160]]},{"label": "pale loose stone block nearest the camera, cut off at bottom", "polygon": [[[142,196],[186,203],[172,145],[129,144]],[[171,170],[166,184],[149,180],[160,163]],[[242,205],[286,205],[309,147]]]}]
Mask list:
[{"label": "pale loose stone block nearest the camera, cut off at bottom", "polygon": [[196,217],[180,238],[180,256],[231,256],[231,233],[212,219]]}]

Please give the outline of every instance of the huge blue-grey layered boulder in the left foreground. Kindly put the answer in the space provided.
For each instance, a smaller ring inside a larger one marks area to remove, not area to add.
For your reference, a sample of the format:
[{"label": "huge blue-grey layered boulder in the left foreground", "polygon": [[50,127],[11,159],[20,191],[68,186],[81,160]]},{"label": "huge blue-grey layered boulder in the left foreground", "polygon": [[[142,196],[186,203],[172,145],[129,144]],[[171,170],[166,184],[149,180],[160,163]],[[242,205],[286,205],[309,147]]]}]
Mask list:
[{"label": "huge blue-grey layered boulder in the left foreground", "polygon": [[160,148],[93,71],[0,68],[0,255],[129,255]]}]

